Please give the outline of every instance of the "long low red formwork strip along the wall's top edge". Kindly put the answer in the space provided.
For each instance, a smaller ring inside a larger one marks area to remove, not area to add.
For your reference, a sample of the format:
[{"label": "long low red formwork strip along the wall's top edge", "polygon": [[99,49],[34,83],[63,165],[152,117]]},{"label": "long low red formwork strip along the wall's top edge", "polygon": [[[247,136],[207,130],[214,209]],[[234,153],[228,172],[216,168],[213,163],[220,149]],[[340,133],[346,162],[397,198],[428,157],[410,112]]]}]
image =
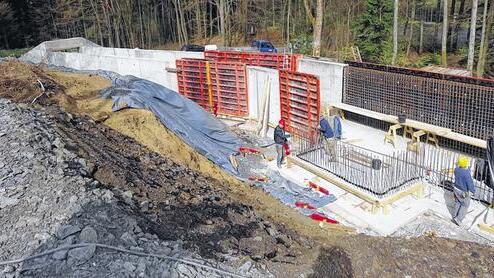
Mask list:
[{"label": "long low red formwork strip along the wall's top edge", "polygon": [[210,61],[243,63],[248,66],[260,66],[277,70],[297,70],[297,54],[261,53],[244,51],[204,52],[204,57]]}]

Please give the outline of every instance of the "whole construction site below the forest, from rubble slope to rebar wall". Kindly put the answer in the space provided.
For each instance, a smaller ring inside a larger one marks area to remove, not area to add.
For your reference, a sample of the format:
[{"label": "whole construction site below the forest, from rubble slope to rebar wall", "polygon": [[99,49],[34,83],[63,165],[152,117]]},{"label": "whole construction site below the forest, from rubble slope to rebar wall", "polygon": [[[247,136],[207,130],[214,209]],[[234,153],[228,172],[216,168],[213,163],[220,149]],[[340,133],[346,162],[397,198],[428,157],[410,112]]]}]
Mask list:
[{"label": "whole construction site below the forest, from rubble slope to rebar wall", "polygon": [[44,42],[0,60],[0,277],[491,277],[493,105],[447,72]]}]

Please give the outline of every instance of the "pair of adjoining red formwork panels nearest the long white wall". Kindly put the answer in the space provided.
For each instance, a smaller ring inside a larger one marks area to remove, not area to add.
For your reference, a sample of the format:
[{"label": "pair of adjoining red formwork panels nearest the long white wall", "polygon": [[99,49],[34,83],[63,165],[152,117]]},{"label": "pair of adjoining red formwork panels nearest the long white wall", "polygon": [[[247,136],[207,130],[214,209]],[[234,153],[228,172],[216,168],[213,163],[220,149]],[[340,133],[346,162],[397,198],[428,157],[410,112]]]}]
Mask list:
[{"label": "pair of adjoining red formwork panels nearest the long white wall", "polygon": [[[210,79],[208,80],[208,64]],[[176,61],[178,92],[208,111],[244,117],[249,113],[245,64],[203,59]],[[210,91],[211,90],[211,96]]]}]

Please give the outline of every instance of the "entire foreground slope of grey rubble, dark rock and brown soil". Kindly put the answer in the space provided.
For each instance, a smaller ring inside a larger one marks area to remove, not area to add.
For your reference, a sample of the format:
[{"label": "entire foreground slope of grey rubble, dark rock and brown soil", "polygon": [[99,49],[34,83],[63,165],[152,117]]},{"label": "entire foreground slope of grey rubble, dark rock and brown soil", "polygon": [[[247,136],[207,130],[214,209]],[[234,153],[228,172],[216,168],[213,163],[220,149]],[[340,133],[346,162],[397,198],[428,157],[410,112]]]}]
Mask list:
[{"label": "entire foreground slope of grey rubble, dark rock and brown soil", "polygon": [[[0,74],[1,96],[30,103],[40,94],[29,84],[44,77],[41,69],[37,78],[26,73],[22,80],[4,72],[10,75]],[[24,82],[26,91],[9,85],[14,82]],[[229,275],[159,256],[248,277],[494,273],[489,246],[321,229],[262,190],[207,177],[89,117],[65,112],[55,100],[66,88],[53,82],[53,94],[41,105],[0,98],[0,277]],[[2,265],[60,247],[67,249]]]}]

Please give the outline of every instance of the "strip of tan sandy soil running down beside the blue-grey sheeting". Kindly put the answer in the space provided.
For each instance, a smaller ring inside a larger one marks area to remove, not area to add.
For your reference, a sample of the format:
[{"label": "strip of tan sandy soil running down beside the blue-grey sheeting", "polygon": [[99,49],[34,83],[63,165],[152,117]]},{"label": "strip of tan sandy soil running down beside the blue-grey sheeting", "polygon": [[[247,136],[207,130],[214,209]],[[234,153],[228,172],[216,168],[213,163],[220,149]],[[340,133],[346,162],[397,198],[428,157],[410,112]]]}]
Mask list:
[{"label": "strip of tan sandy soil running down beside the blue-grey sheeting", "polygon": [[[57,90],[48,97],[40,98],[38,103],[57,104],[70,113],[88,115],[96,122],[103,122],[116,131],[134,138],[150,150],[166,155],[176,163],[216,179],[235,181],[170,132],[151,112],[141,109],[112,112],[112,101],[102,99],[100,95],[100,91],[109,87],[111,82],[102,77],[47,71],[16,60],[0,63],[0,72],[3,73],[3,77],[0,78],[0,88],[2,88],[0,97],[30,103],[42,93],[37,83],[40,79],[45,86],[50,84],[49,88],[57,88]],[[7,86],[7,84],[24,85]]]}]

